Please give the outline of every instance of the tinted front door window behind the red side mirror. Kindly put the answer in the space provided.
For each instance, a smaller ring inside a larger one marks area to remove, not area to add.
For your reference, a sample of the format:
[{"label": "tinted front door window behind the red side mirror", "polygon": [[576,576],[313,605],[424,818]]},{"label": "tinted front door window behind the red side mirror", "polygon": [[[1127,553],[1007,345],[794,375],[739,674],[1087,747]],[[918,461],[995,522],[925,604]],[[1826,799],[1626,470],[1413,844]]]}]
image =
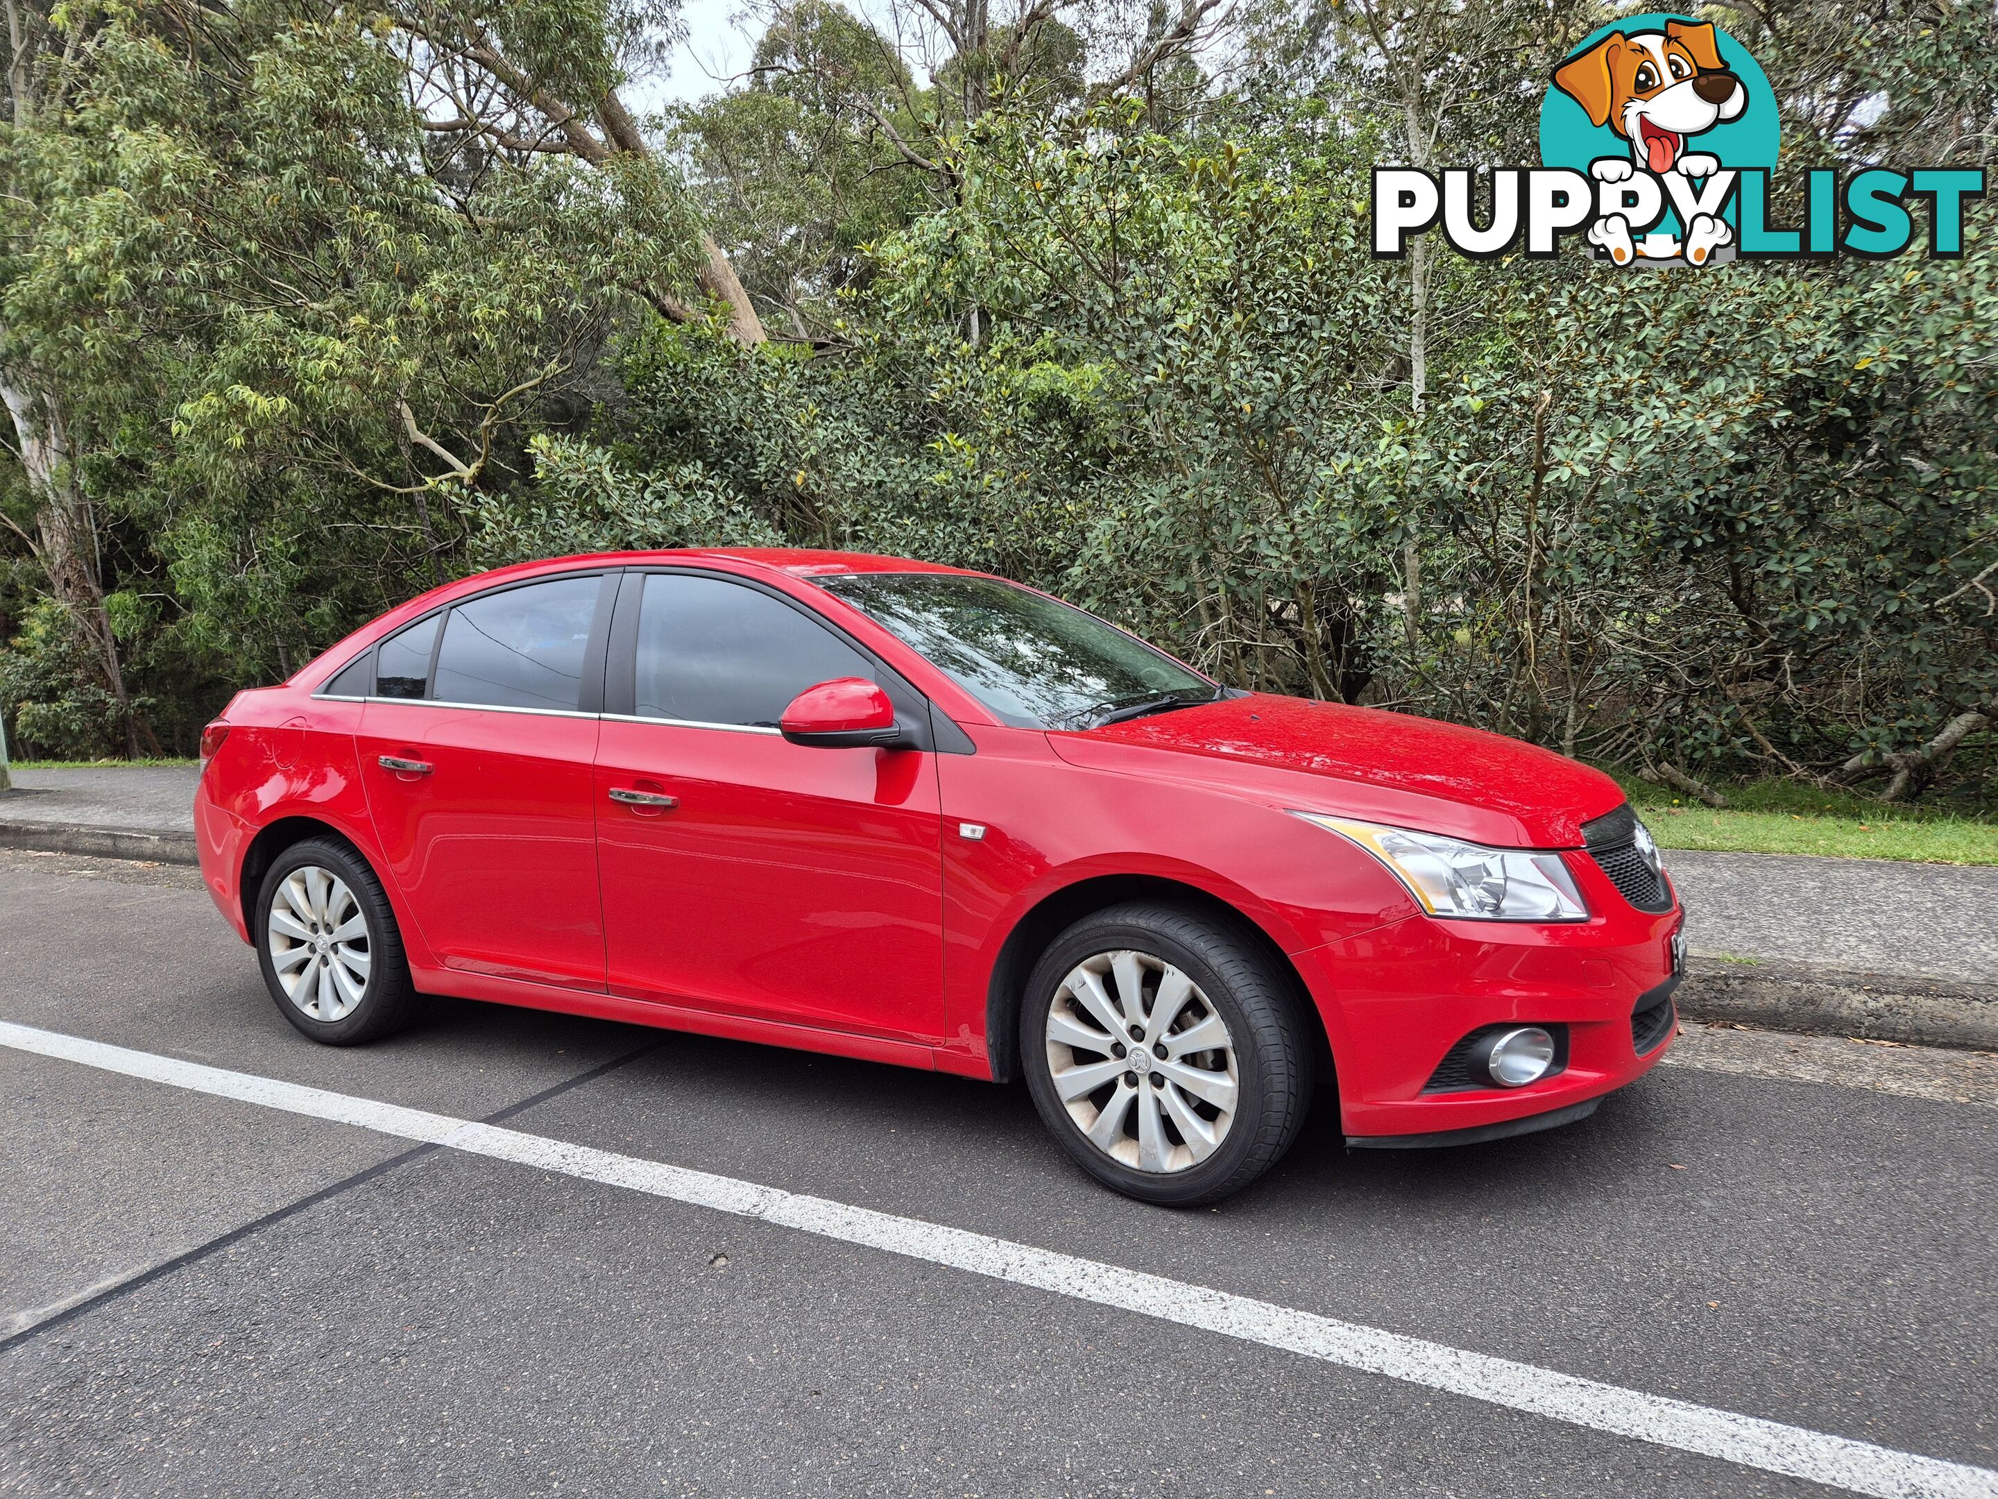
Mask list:
[{"label": "tinted front door window behind the red side mirror", "polygon": [[873,662],[789,604],[741,584],[653,574],[637,614],[637,714],[777,728],[789,702]]}]

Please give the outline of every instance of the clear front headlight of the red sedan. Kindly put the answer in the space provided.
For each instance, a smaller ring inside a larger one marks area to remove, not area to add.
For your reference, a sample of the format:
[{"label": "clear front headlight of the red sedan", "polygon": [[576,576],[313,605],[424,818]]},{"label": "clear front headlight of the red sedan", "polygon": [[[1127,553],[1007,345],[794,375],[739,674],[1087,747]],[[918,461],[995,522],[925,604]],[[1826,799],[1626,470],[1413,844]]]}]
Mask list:
[{"label": "clear front headlight of the red sedan", "polygon": [[1473,921],[1586,921],[1588,905],[1558,853],[1483,847],[1461,837],[1299,811],[1351,837],[1423,901],[1431,915]]}]

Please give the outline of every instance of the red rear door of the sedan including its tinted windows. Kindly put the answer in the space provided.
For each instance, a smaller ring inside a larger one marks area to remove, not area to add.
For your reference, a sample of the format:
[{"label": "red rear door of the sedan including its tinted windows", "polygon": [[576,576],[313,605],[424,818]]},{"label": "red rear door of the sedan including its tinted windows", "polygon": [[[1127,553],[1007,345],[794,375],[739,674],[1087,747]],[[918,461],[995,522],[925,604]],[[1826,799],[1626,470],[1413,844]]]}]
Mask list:
[{"label": "red rear door of the sedan including its tinted windows", "polygon": [[513,584],[376,652],[368,805],[446,967],[603,989],[591,763],[613,590],[603,572]]}]

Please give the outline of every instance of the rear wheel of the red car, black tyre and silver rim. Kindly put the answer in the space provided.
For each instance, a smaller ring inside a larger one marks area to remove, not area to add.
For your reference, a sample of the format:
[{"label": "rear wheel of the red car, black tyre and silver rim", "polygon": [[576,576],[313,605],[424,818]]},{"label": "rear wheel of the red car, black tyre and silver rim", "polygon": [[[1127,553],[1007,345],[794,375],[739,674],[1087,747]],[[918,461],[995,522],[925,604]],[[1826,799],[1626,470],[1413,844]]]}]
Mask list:
[{"label": "rear wheel of the red car, black tyre and silver rim", "polygon": [[278,855],[252,933],[270,997],[314,1041],[374,1041],[416,1013],[396,913],[368,861],[340,839],[310,837]]}]

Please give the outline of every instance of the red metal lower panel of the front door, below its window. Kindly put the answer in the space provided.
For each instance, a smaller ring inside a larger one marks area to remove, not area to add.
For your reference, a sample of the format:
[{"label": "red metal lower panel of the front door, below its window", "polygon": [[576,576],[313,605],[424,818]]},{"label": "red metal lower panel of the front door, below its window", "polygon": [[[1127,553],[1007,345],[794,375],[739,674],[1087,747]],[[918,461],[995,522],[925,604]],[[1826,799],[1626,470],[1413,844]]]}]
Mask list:
[{"label": "red metal lower panel of the front door, below its window", "polygon": [[[603,726],[611,993],[935,1045],[941,755]],[[669,811],[613,785],[671,791]]]}]

